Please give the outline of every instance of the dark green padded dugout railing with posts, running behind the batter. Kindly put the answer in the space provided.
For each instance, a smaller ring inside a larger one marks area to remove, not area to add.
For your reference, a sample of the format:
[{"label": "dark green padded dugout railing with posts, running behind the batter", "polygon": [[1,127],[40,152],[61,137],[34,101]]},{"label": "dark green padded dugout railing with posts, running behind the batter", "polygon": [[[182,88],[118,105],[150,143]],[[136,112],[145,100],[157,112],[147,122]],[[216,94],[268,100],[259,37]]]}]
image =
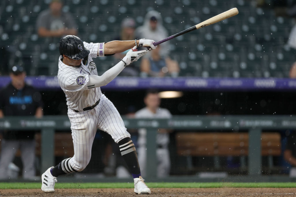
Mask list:
[{"label": "dark green padded dugout railing with posts, running behind the batter", "polygon": [[[157,178],[156,176],[156,133],[158,128],[186,130],[247,130],[249,135],[248,148],[248,175],[229,176],[229,181],[292,181],[287,175],[262,175],[261,155],[261,133],[262,130],[284,130],[296,129],[295,117],[289,115],[273,116],[173,116],[171,119],[131,119],[123,116],[126,128],[147,129],[147,179],[164,181],[198,181],[197,176],[176,176],[168,178]],[[55,130],[69,130],[70,121],[67,116],[44,116],[36,119],[34,117],[5,117],[0,119],[0,130],[41,130],[41,172],[48,166],[54,165],[54,133]],[[155,161],[155,162],[152,162]],[[109,178],[110,180],[114,180]],[[109,180],[104,178],[104,181]],[[222,178],[223,179],[223,178]],[[222,180],[221,179],[221,180]],[[207,178],[205,181],[220,180]],[[96,179],[98,181],[98,179]]]}]

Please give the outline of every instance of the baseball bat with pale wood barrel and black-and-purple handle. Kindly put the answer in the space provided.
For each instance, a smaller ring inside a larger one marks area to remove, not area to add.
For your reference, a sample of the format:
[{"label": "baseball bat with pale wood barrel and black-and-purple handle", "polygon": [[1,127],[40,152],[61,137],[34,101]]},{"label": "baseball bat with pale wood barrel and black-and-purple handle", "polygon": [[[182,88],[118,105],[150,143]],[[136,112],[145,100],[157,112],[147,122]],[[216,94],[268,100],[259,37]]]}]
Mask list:
[{"label": "baseball bat with pale wood barrel and black-and-purple handle", "polygon": [[186,29],[186,30],[184,30],[184,31],[179,32],[179,33],[176,33],[175,35],[171,35],[171,36],[168,37],[168,38],[165,38],[165,39],[160,40],[160,41],[158,41],[158,42],[156,42],[156,43],[153,43],[153,45],[154,45],[154,46],[159,45],[159,44],[161,44],[161,43],[164,43],[165,41],[168,41],[168,40],[170,40],[170,39],[176,38],[176,37],[178,37],[179,35],[183,35],[183,34],[185,34],[185,33],[191,32],[191,31],[193,31],[193,30],[197,30],[197,29],[199,29],[199,28],[202,28],[202,27],[205,27],[205,26],[208,26],[208,25],[212,25],[212,24],[214,24],[214,23],[216,23],[216,22],[219,22],[219,21],[221,21],[221,20],[224,20],[224,19],[227,19],[227,18],[233,17],[233,16],[237,15],[238,13],[239,13],[239,11],[237,10],[237,8],[232,8],[232,9],[226,11],[226,12],[223,12],[223,13],[221,13],[221,14],[218,14],[218,15],[216,15],[216,16],[210,18],[210,19],[207,19],[207,20],[205,20],[204,22],[201,22],[201,23],[199,23],[199,24],[197,24],[197,25],[194,25],[193,27],[190,27],[190,28],[188,28],[188,29]]}]

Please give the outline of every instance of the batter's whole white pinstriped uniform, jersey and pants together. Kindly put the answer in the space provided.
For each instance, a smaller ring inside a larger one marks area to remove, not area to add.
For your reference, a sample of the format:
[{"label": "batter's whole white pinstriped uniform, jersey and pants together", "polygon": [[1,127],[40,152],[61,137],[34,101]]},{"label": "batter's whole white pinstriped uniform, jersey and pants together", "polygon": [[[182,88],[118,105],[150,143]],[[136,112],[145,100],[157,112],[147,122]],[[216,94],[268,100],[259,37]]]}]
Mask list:
[{"label": "batter's whole white pinstriped uniform, jersey and pants together", "polygon": [[[92,58],[96,58],[97,53],[99,57],[104,56],[104,43],[83,44],[90,53],[88,60],[82,61],[81,66],[67,66],[62,62],[62,56],[59,57],[58,80],[67,99],[67,114],[71,122],[74,145],[74,156],[61,162],[65,173],[80,172],[88,165],[98,128],[110,134],[116,143],[131,137],[113,103],[102,94],[100,87],[89,84],[89,75],[98,74]],[[93,105],[99,99],[100,102],[93,109],[83,111],[83,108]],[[134,147],[127,147],[121,147],[125,150],[122,154],[134,151]]]}]

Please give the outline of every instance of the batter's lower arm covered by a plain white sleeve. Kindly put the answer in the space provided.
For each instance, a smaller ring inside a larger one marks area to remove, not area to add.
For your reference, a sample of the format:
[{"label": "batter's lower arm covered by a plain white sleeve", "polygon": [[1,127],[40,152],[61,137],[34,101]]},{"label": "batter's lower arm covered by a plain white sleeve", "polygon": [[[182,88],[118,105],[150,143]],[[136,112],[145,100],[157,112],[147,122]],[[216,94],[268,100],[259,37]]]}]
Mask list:
[{"label": "batter's lower arm covered by a plain white sleeve", "polygon": [[101,87],[111,82],[124,69],[123,61],[104,72],[102,76],[90,75],[87,86]]}]

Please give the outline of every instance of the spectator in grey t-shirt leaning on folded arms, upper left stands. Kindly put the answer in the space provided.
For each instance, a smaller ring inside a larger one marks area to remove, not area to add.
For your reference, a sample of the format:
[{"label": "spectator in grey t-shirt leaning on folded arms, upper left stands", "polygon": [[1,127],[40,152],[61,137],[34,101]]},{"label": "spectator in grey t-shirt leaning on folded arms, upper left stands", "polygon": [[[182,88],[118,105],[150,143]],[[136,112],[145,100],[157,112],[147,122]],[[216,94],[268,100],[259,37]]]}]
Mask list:
[{"label": "spectator in grey t-shirt leaning on folded arms, upper left stands", "polygon": [[62,12],[62,1],[52,0],[49,9],[42,11],[36,22],[40,37],[57,37],[77,35],[77,25],[69,13]]}]

